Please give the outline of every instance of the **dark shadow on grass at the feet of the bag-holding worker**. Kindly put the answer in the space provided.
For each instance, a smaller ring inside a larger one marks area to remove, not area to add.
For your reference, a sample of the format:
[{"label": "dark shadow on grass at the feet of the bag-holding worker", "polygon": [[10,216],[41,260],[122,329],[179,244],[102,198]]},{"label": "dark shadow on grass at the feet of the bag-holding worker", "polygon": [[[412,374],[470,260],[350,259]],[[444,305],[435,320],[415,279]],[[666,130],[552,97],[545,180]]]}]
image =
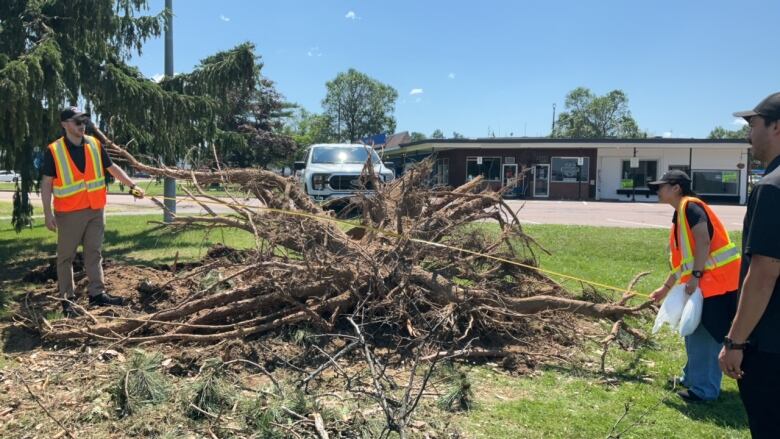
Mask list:
[{"label": "dark shadow on grass at the feet of the bag-holding worker", "polygon": [[739,397],[739,392],[726,390],[721,392],[720,398],[712,402],[686,403],[679,397],[668,398],[664,401],[668,407],[673,408],[686,417],[734,429],[748,428],[747,414]]}]

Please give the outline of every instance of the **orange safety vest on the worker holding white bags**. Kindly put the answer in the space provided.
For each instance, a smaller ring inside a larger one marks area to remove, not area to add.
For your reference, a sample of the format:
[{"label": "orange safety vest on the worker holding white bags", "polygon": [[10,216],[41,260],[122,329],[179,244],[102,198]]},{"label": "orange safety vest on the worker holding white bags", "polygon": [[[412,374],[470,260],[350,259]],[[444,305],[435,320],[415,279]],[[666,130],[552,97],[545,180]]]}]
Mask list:
[{"label": "orange safety vest on the worker holding white bags", "polygon": [[[672,226],[669,234],[669,248],[671,249],[670,262],[672,273],[677,282],[684,284],[692,276],[693,257],[696,249],[691,227],[685,217],[685,208],[688,203],[696,203],[701,206],[712,224],[712,239],[710,239],[710,251],[707,262],[704,265],[703,275],[699,279],[699,288],[702,295],[707,297],[719,296],[739,287],[740,251],[723,227],[723,223],[715,215],[715,212],[703,201],[694,197],[683,198],[677,209],[677,226]],[[675,239],[675,230],[677,239]]]}]

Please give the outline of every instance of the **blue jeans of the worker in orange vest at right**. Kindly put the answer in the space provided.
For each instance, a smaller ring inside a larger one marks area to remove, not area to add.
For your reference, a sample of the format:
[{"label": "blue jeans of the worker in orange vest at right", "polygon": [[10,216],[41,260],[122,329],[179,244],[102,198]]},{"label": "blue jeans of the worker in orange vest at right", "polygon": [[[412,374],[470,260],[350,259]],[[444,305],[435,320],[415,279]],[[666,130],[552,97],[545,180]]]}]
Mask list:
[{"label": "blue jeans of the worker in orange vest at right", "polygon": [[718,365],[722,343],[712,338],[703,325],[685,337],[688,363],[683,368],[681,384],[704,400],[718,399],[723,372]]}]

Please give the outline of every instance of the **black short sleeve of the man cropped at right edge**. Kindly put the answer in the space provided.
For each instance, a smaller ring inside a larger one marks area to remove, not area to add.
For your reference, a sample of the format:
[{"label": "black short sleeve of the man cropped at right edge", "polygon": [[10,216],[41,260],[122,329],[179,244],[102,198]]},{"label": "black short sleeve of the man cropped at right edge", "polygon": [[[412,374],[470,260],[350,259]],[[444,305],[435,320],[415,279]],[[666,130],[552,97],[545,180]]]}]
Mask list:
[{"label": "black short sleeve of the man cropped at right edge", "polygon": [[780,188],[757,185],[745,240],[745,253],[780,259]]}]

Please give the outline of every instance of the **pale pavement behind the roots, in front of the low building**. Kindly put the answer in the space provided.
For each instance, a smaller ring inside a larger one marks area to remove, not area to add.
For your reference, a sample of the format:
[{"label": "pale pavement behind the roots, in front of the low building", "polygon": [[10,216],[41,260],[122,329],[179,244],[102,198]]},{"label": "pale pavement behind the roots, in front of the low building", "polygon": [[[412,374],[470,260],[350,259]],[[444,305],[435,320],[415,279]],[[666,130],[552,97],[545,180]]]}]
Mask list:
[{"label": "pale pavement behind the roots, in front of the low building", "polygon": [[[0,192],[0,201],[11,201],[11,192]],[[30,194],[40,205],[37,194]],[[672,219],[670,206],[656,203],[596,202],[596,201],[538,201],[508,200],[509,206],[518,212],[520,221],[526,224],[575,224],[604,227],[645,227],[667,229]],[[221,206],[209,205],[217,212],[227,212]],[[712,206],[729,230],[741,230],[745,206]],[[133,200],[129,195],[109,194],[110,214],[156,213],[161,210],[149,199]],[[197,214],[205,211],[187,201],[179,204],[178,213]],[[0,218],[5,220],[7,218]]]}]

